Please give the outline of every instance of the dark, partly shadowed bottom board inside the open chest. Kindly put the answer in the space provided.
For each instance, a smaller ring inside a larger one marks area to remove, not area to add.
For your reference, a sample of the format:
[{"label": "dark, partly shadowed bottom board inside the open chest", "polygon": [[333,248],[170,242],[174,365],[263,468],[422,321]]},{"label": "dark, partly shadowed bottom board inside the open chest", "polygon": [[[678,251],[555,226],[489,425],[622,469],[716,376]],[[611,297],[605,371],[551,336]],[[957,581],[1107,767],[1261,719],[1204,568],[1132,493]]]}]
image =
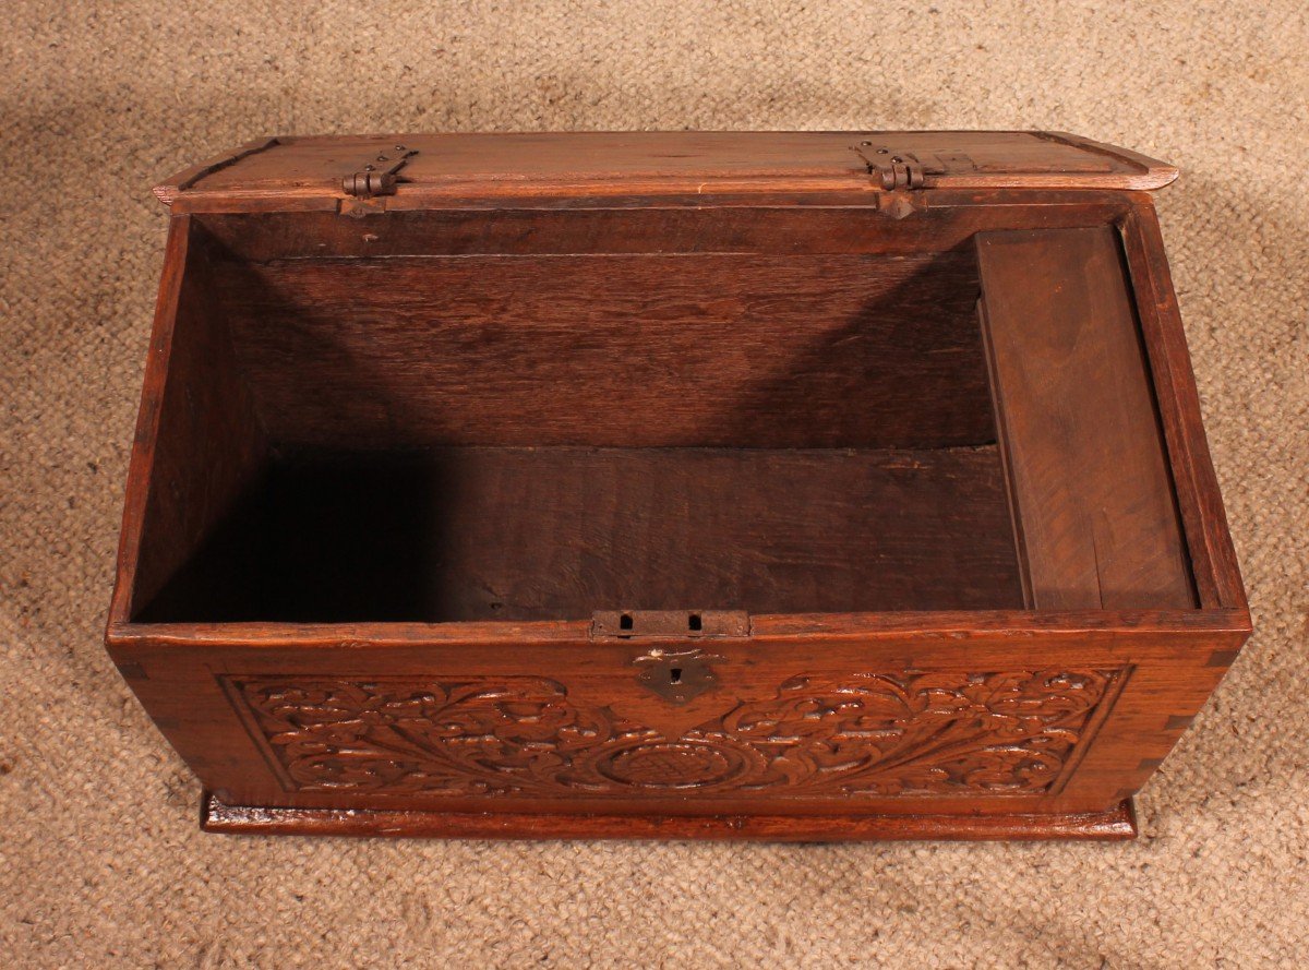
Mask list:
[{"label": "dark, partly shadowed bottom board inside the open chest", "polygon": [[994,446],[292,458],[140,619],[1022,605]]}]

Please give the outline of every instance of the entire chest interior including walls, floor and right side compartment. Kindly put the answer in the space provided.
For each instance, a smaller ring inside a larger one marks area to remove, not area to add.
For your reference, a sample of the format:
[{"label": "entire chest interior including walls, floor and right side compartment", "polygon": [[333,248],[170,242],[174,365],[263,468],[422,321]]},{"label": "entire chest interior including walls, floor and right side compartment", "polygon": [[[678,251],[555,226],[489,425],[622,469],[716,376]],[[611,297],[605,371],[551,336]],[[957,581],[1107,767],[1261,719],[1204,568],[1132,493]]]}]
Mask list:
[{"label": "entire chest interior including walls, floor and right side compartment", "polygon": [[1115,230],[1020,209],[194,216],[132,617],[1191,606]]}]

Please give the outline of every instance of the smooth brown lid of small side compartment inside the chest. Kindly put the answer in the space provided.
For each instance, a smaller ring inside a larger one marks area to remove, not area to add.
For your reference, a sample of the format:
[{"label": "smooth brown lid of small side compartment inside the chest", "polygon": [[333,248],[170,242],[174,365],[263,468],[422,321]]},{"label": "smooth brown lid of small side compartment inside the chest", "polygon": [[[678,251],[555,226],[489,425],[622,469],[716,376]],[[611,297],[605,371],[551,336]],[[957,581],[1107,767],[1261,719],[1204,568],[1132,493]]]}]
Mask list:
[{"label": "smooth brown lid of small side compartment inside the chest", "polygon": [[1118,233],[979,233],[977,245],[1031,605],[1195,606]]}]

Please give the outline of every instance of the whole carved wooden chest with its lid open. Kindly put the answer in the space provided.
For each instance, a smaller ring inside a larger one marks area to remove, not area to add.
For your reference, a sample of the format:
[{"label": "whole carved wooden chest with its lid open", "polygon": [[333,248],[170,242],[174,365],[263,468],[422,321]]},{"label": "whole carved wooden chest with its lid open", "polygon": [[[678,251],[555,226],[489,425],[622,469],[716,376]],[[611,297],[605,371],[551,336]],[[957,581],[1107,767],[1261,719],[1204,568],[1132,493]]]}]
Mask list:
[{"label": "whole carved wooden chest with its lid open", "polygon": [[203,825],[1134,835],[1250,631],[1174,177],[679,132],[166,182],[107,644]]}]

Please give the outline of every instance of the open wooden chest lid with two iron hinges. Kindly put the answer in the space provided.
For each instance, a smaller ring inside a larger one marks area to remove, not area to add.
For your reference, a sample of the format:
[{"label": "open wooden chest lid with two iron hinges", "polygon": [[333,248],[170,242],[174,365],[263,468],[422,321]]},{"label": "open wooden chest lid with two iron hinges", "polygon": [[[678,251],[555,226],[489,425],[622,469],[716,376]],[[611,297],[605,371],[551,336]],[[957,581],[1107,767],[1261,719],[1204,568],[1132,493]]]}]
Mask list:
[{"label": "open wooden chest lid with two iron hinges", "polygon": [[1047,131],[548,132],[270,137],[154,190],[187,211],[424,208],[501,196],[1158,189],[1177,169]]}]

